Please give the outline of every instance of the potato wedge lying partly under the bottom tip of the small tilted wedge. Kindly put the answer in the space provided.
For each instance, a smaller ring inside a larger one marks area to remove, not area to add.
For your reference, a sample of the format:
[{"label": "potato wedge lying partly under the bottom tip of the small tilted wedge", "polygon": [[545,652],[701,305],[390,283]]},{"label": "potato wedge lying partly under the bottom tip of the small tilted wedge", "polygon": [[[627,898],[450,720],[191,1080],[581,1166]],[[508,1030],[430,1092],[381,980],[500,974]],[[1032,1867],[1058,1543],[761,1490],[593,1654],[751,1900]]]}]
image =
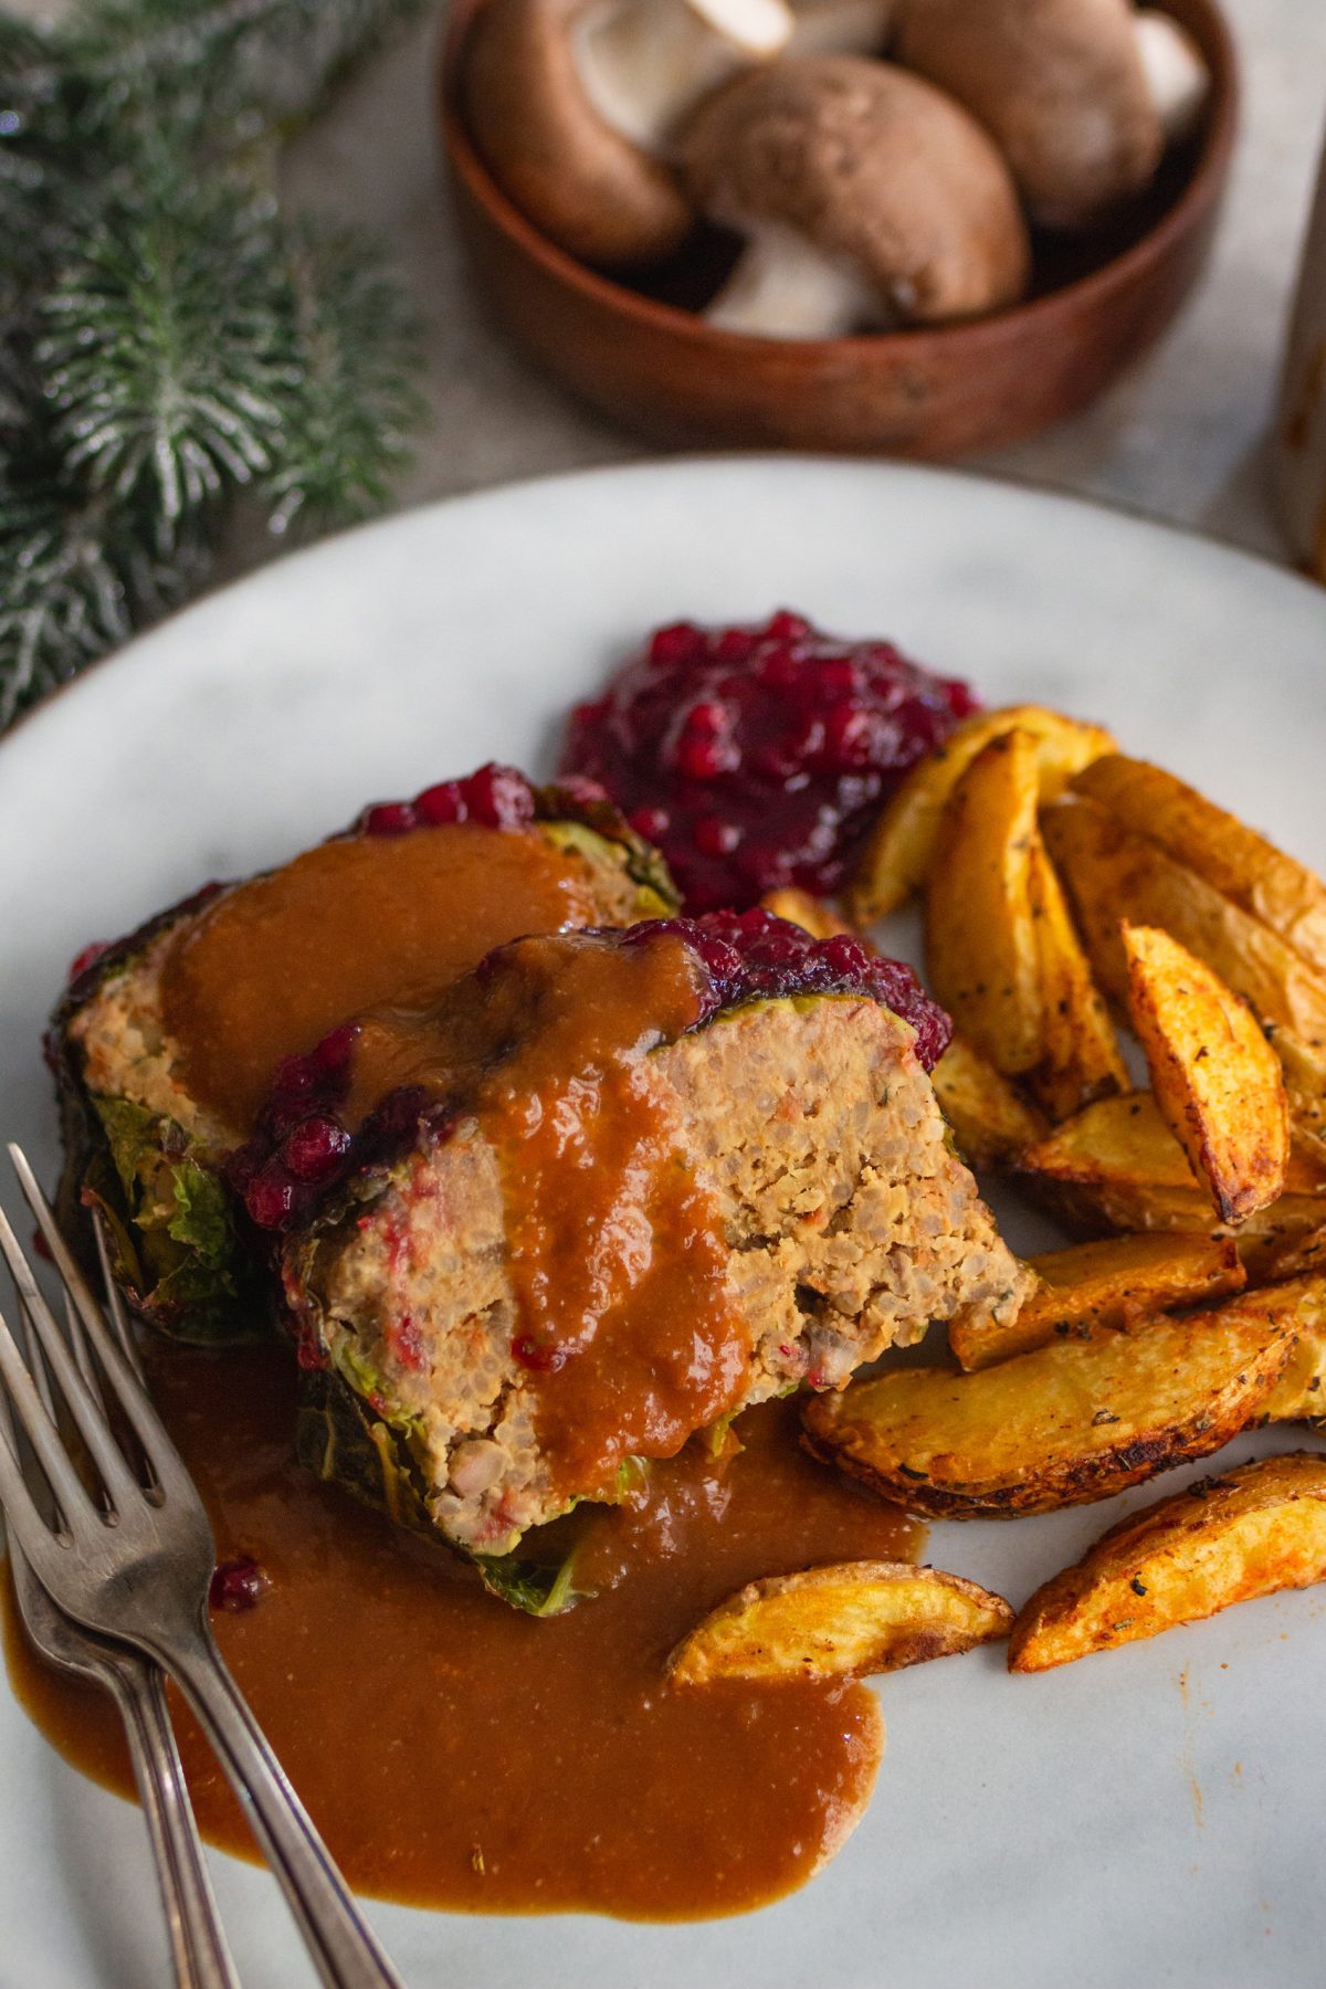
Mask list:
[{"label": "potato wedge lying partly under the bottom tip of the small tilted wedge", "polygon": [[[1020,1183],[1079,1235],[1135,1229],[1223,1233],[1211,1195],[1151,1092],[1101,1098],[1014,1162]],[[1248,1245],[1304,1235],[1326,1215],[1326,1168],[1290,1152],[1284,1193],[1239,1229]]]}]

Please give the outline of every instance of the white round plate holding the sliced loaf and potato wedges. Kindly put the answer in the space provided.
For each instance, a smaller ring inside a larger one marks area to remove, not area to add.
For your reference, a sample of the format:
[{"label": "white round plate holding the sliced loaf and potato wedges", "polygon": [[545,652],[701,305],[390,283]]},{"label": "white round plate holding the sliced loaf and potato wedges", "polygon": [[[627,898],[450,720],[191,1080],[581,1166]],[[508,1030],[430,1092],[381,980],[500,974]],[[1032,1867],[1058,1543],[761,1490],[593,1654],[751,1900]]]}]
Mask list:
[{"label": "white round plate holding the sliced loaf and potato wedges", "polygon": [[[1306,583],[938,471],[746,457],[563,477],[270,567],[0,748],[0,1130],[54,1170],[38,1032],[89,939],[374,796],[491,756],[543,768],[567,704],[642,631],[781,603],[891,634],[992,702],[1103,718],[1326,865],[1326,595]],[[1233,1456],[1260,1448],[1286,1438]],[[1117,1512],[936,1526],[930,1551],[1022,1601]],[[889,1681],[867,1820],[757,1915],[372,1917],[417,1989],[1318,1985],[1324,1607],[1252,1603],[1040,1679],[984,1651]],[[245,1979],[306,1981],[272,1884],[215,1864]],[[135,1812],[66,1768],[0,1683],[2,1989],[157,1979]]]}]

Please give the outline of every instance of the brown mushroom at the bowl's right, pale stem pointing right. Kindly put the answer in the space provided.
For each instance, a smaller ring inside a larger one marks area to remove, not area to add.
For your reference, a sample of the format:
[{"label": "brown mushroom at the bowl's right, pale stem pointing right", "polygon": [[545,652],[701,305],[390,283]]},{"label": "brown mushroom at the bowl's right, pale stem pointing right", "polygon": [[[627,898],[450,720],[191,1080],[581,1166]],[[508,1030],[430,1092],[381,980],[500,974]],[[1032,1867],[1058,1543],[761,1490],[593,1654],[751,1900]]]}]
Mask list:
[{"label": "brown mushroom at the bowl's right, pale stem pointing right", "polygon": [[1139,193],[1209,84],[1177,22],[1131,0],[903,0],[897,56],[980,117],[1054,229]]}]

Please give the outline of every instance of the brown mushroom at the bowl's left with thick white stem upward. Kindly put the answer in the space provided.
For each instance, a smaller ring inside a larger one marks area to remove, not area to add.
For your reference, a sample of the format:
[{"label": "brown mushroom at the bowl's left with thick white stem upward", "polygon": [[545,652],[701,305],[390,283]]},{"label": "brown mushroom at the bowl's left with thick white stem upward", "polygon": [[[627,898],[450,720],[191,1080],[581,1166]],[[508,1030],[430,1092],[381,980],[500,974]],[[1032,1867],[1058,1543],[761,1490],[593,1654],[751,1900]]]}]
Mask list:
[{"label": "brown mushroom at the bowl's left with thick white stem upward", "polygon": [[563,249],[654,261],[692,225],[670,131],[789,34],[785,0],[487,0],[465,54],[469,133]]}]

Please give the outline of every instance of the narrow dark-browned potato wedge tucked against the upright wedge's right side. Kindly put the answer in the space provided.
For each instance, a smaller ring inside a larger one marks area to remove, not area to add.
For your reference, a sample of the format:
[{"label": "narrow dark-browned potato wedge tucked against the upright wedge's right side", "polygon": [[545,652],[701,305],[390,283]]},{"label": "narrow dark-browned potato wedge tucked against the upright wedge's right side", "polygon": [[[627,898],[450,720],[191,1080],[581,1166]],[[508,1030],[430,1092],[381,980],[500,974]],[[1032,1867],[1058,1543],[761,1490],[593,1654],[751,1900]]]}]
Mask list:
[{"label": "narrow dark-browned potato wedge tucked against the upright wedge's right side", "polygon": [[1040,963],[1042,1060],[1032,1088],[1052,1120],[1066,1120],[1093,1098],[1129,1088],[1109,1010],[1060,889],[1040,833],[1028,851],[1032,917]]}]

